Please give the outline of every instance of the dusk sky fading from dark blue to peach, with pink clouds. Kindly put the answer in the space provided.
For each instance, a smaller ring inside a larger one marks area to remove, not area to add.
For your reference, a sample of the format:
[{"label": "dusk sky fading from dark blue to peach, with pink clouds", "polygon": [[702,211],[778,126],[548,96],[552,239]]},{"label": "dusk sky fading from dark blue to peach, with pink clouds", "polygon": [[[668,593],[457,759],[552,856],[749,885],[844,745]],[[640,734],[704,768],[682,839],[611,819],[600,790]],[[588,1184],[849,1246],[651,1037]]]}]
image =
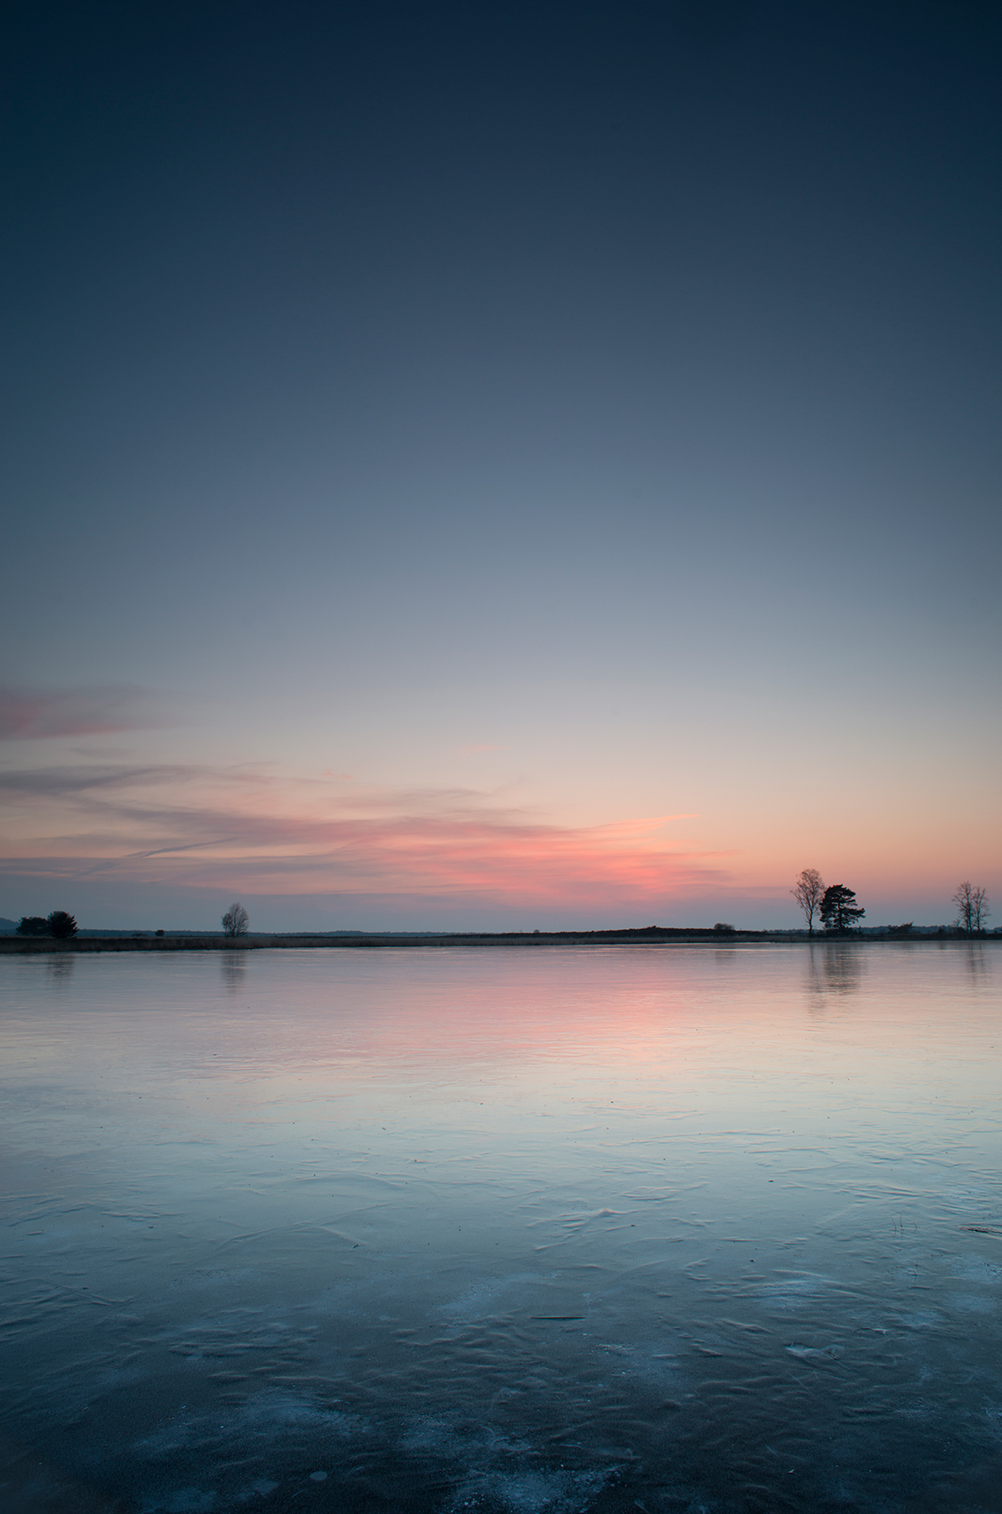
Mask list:
[{"label": "dusk sky fading from dark blue to peach, with pink clouds", "polygon": [[0,916],[1002,919],[994,6],[9,27]]}]

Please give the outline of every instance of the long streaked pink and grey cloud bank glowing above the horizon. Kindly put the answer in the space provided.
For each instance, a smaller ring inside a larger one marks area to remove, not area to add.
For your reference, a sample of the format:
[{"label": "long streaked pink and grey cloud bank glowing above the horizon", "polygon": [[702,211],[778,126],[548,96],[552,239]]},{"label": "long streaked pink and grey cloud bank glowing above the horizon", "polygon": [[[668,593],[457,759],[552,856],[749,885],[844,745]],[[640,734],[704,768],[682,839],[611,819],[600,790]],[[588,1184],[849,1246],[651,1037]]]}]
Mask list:
[{"label": "long streaked pink and grey cloud bank glowing above the horizon", "polygon": [[655,902],[727,878],[725,858],[671,842],[680,816],[555,825],[472,789],[348,796],[322,780],[166,766],[64,766],[5,784],[21,799],[8,871],[549,904]]}]

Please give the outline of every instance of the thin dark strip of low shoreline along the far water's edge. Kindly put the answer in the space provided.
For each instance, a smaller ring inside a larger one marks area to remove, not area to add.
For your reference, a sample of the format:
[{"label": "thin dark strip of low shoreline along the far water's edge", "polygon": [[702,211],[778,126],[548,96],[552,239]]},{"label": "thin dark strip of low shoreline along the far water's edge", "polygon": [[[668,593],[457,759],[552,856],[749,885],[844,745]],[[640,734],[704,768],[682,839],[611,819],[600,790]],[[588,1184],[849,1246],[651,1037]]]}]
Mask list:
[{"label": "thin dark strip of low shoreline along the far water's edge", "polygon": [[132,934],[79,934],[67,940],[51,936],[0,936],[0,954],[35,952],[101,952],[101,951],[260,951],[262,948],[409,948],[409,946],[730,946],[745,945],[814,945],[840,942],[860,946],[872,942],[901,942],[941,945],[946,940],[1002,942],[993,931],[963,931],[955,927],[904,930],[890,927],[885,931],[869,930],[826,933],[814,931],[742,931],[719,927],[674,927],[648,925],[636,930],[605,931],[331,931],[331,933],[274,933],[226,936],[221,931],[179,931],[157,936],[153,931]]}]

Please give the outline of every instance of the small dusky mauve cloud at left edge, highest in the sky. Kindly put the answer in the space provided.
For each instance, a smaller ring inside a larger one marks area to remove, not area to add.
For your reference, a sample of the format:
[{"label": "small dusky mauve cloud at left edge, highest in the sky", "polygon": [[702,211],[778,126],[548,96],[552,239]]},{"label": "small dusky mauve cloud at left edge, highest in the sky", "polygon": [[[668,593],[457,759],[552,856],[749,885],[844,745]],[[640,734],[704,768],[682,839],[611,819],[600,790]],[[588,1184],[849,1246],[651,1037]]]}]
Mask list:
[{"label": "small dusky mauve cloud at left edge, highest in the sky", "polygon": [[94,689],[0,686],[0,740],[110,736],[163,724],[157,698],[135,684]]}]

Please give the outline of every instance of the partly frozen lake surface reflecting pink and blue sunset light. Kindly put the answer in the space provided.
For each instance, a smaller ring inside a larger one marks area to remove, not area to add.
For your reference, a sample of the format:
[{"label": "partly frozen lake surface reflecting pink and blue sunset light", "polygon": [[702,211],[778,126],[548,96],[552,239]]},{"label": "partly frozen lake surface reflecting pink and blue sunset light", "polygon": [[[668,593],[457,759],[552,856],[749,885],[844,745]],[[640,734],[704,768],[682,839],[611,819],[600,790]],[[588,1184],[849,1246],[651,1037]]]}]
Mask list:
[{"label": "partly frozen lake surface reflecting pink and blue sunset light", "polygon": [[2,958],[0,1503],[1000,1509],[999,951]]}]

